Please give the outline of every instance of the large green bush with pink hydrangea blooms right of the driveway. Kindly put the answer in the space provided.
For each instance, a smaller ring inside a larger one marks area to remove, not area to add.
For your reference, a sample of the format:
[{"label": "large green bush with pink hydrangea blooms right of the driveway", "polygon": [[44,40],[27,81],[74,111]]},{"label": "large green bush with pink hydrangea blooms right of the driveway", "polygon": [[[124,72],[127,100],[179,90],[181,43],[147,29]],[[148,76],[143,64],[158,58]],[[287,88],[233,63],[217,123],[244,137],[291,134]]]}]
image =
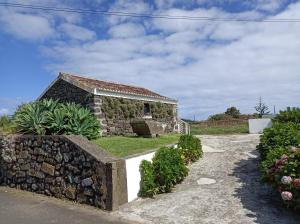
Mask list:
[{"label": "large green bush with pink hydrangea blooms right of the driveway", "polygon": [[262,179],[271,184],[286,205],[300,209],[299,108],[281,111],[265,129],[257,146]]}]

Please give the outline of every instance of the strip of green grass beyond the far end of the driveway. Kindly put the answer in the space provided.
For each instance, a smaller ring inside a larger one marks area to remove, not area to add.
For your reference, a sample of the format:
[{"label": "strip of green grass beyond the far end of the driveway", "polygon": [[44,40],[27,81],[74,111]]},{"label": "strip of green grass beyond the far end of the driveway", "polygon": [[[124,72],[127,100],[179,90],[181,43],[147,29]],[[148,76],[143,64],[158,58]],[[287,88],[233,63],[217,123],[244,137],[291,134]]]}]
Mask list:
[{"label": "strip of green grass beyond the far end of the driveway", "polygon": [[232,126],[199,127],[196,124],[191,125],[192,135],[229,135],[229,134],[247,134],[249,133],[248,124],[239,124]]}]

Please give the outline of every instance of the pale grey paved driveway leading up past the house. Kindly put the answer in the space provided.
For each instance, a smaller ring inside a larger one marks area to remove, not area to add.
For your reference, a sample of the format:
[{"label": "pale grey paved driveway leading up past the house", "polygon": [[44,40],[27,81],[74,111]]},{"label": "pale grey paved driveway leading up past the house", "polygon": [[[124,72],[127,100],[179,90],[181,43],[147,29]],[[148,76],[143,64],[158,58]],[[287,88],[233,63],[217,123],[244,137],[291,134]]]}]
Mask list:
[{"label": "pale grey paved driveway leading up past the house", "polygon": [[204,158],[192,164],[173,193],[138,199],[115,214],[142,223],[300,223],[300,216],[287,211],[278,195],[260,183],[258,135],[200,138]]}]

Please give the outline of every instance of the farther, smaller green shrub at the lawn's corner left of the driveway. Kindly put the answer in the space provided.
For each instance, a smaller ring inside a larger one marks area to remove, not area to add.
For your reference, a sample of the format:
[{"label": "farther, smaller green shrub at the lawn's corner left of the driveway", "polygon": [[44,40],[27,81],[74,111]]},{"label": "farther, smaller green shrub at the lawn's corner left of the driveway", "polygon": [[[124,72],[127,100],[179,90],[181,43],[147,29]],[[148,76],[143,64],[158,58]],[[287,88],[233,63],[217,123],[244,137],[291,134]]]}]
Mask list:
[{"label": "farther, smaller green shrub at the lawn's corner left of the driveway", "polygon": [[186,164],[195,162],[203,156],[200,139],[192,135],[180,136],[178,148]]}]

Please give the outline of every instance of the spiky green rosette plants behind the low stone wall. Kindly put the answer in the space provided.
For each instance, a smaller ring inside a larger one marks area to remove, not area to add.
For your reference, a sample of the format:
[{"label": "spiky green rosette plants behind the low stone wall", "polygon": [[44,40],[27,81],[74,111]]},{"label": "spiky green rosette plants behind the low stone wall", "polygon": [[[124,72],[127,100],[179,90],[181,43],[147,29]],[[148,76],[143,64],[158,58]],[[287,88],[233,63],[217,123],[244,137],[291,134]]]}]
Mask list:
[{"label": "spiky green rosette plants behind the low stone wall", "polygon": [[88,109],[75,103],[42,100],[21,105],[14,117],[16,131],[24,134],[74,134],[99,137],[99,121]]}]

